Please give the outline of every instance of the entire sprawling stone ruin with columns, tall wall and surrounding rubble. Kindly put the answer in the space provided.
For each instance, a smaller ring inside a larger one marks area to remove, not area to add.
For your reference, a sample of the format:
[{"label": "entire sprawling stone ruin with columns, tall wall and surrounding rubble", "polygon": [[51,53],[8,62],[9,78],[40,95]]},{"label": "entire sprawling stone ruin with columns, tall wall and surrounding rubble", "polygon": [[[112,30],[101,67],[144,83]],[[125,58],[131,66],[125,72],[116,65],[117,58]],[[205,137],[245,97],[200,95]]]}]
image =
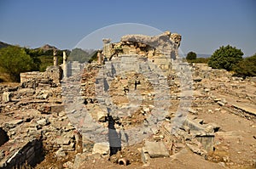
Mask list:
[{"label": "entire sprawling stone ruin with columns, tall wall and surrounding rubble", "polygon": [[[240,104],[230,106],[209,94],[215,90],[231,93],[226,82],[232,82],[237,89],[234,95],[256,99],[255,94],[241,93],[236,78],[225,70],[183,63],[178,56],[180,35],[166,31],[155,37],[127,35],[120,42],[102,41],[96,62],[70,63],[64,53],[61,66],[54,57],[54,65],[45,72],[21,73],[20,86],[1,88],[1,168],[36,166],[47,155],[65,162],[65,168],[80,168],[88,156],[98,154],[110,155],[109,160],[120,165],[140,158],[148,166],[152,158],[172,157],[185,148],[207,159],[215,149],[220,127],[197,118],[201,109],[214,105],[216,110],[220,106],[255,118],[253,110]],[[202,82],[205,79],[220,80],[207,86]],[[191,89],[201,93],[183,95]],[[157,113],[155,103],[161,96],[170,97],[157,104],[162,105],[157,111],[164,112]],[[183,121],[173,132],[181,100],[186,114],[178,115]],[[125,147],[141,142],[139,154],[125,152]],[[72,161],[65,160],[73,153]]]}]

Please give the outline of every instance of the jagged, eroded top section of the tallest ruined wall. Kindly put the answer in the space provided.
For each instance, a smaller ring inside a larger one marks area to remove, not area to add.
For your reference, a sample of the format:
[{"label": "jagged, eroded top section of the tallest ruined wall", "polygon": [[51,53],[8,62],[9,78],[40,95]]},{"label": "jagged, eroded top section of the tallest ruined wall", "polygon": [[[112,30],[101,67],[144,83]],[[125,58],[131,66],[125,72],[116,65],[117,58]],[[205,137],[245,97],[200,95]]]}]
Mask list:
[{"label": "jagged, eroded top section of the tallest ruined wall", "polygon": [[178,59],[178,51],[181,36],[177,33],[166,31],[159,36],[148,37],[144,35],[126,35],[120,42],[110,43],[109,39],[103,39],[102,54],[108,60],[119,58],[123,55],[137,54],[164,70],[172,69],[172,60]]}]

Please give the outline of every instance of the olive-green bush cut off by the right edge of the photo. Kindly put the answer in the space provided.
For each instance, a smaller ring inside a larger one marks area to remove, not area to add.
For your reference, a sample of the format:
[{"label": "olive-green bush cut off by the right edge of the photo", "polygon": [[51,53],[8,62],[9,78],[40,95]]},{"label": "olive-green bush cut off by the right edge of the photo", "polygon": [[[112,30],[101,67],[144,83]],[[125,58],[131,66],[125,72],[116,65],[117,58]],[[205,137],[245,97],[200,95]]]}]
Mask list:
[{"label": "olive-green bush cut off by the right edge of the photo", "polygon": [[242,59],[235,67],[236,76],[256,76],[256,54]]}]

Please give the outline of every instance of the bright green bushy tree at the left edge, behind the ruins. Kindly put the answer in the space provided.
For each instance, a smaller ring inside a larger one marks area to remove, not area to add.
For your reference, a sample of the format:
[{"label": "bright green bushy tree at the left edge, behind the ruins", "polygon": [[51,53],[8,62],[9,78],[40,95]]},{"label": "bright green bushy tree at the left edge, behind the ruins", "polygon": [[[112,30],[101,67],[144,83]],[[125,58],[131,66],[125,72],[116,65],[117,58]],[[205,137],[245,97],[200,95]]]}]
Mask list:
[{"label": "bright green bushy tree at the left edge, behind the ruins", "polygon": [[20,81],[20,72],[32,69],[33,60],[24,48],[9,46],[0,49],[0,69],[15,82]]}]

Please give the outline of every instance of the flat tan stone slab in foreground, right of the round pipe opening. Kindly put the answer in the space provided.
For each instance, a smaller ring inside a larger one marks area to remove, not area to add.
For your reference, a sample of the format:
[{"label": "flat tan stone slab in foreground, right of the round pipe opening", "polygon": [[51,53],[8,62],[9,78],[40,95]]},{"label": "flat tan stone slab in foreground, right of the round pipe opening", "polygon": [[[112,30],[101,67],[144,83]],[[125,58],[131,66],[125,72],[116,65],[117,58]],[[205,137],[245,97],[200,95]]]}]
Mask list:
[{"label": "flat tan stone slab in foreground, right of the round pipe opening", "polygon": [[169,157],[169,152],[163,142],[145,142],[145,150],[151,158]]}]

